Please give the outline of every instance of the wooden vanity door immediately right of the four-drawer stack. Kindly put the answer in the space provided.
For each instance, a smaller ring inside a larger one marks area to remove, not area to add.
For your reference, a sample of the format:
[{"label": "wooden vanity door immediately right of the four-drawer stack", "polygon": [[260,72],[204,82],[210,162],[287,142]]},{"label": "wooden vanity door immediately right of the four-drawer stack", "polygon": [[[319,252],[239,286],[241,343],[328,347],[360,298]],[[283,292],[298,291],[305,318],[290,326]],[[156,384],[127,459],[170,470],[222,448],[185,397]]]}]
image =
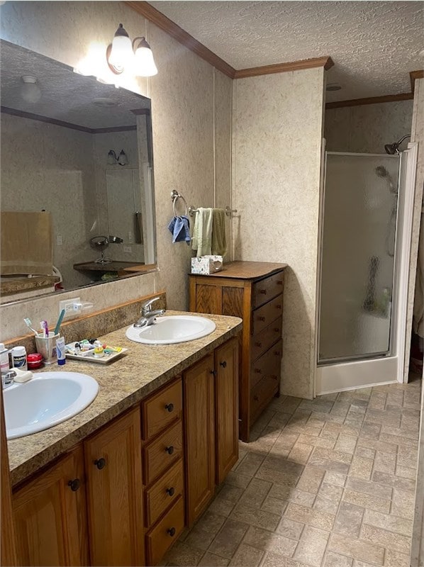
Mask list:
[{"label": "wooden vanity door immediately right of the four-drawer stack", "polygon": [[215,489],[213,355],[184,373],[187,521],[194,522]]}]

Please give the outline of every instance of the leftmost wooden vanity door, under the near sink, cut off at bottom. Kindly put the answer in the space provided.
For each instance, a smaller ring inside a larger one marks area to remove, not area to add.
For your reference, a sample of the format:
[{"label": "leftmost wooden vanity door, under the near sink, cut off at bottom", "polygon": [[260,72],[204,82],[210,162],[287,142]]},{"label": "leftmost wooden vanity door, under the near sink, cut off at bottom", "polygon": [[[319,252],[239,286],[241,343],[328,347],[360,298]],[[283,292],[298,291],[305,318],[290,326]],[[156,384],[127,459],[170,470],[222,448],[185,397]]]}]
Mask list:
[{"label": "leftmost wooden vanity door, under the near sink, cut off at bottom", "polygon": [[19,565],[89,565],[79,446],[13,494]]}]

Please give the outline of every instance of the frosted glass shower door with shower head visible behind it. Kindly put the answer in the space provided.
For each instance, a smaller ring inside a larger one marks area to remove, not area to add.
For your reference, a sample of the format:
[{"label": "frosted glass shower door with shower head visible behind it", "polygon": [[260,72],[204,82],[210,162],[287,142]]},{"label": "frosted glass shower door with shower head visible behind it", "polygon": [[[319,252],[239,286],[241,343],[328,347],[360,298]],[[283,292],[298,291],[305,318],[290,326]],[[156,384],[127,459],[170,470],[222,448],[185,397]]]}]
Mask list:
[{"label": "frosted glass shower door with shower head visible behind it", "polygon": [[390,349],[399,157],[325,159],[318,364]]}]

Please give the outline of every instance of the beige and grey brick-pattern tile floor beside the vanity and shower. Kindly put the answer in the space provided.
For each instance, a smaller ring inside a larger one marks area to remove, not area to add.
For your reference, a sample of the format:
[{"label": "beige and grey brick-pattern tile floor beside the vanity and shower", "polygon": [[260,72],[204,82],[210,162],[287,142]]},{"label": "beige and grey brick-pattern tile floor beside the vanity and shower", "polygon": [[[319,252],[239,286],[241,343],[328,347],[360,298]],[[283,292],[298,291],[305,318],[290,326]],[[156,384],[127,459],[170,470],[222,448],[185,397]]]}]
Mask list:
[{"label": "beige and grey brick-pattern tile floor beside the vanity and shower", "polygon": [[409,567],[420,381],[275,398],[162,565]]}]

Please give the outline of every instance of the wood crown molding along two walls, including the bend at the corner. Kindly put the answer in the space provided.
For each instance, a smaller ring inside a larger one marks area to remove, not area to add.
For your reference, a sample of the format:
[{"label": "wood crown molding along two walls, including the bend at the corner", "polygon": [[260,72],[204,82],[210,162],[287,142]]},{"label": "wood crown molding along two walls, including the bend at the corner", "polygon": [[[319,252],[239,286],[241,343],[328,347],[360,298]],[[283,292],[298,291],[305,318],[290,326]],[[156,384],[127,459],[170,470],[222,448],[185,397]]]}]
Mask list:
[{"label": "wood crown molding along two walls, including the bend at the corner", "polygon": [[205,47],[198,40],[194,39],[192,35],[177,26],[177,24],[172,20],[169,20],[167,16],[164,16],[163,13],[153,8],[153,6],[151,6],[148,2],[142,0],[125,0],[123,4],[130,6],[131,9],[154,23],[155,26],[166,32],[168,35],[171,35],[172,38],[187,47],[187,49],[196,53],[196,55],[199,55],[201,59],[213,65],[213,67],[227,75],[227,77],[230,77],[230,79],[258,77],[259,75],[284,73],[299,69],[313,69],[314,67],[324,67],[325,70],[328,70],[330,67],[333,67],[334,64],[331,57],[314,57],[313,59],[264,65],[263,67],[251,67],[250,69],[240,69],[239,71],[236,71],[233,67],[231,67],[231,65],[221,59],[221,57],[215,55],[215,53],[209,50],[208,47]]}]

